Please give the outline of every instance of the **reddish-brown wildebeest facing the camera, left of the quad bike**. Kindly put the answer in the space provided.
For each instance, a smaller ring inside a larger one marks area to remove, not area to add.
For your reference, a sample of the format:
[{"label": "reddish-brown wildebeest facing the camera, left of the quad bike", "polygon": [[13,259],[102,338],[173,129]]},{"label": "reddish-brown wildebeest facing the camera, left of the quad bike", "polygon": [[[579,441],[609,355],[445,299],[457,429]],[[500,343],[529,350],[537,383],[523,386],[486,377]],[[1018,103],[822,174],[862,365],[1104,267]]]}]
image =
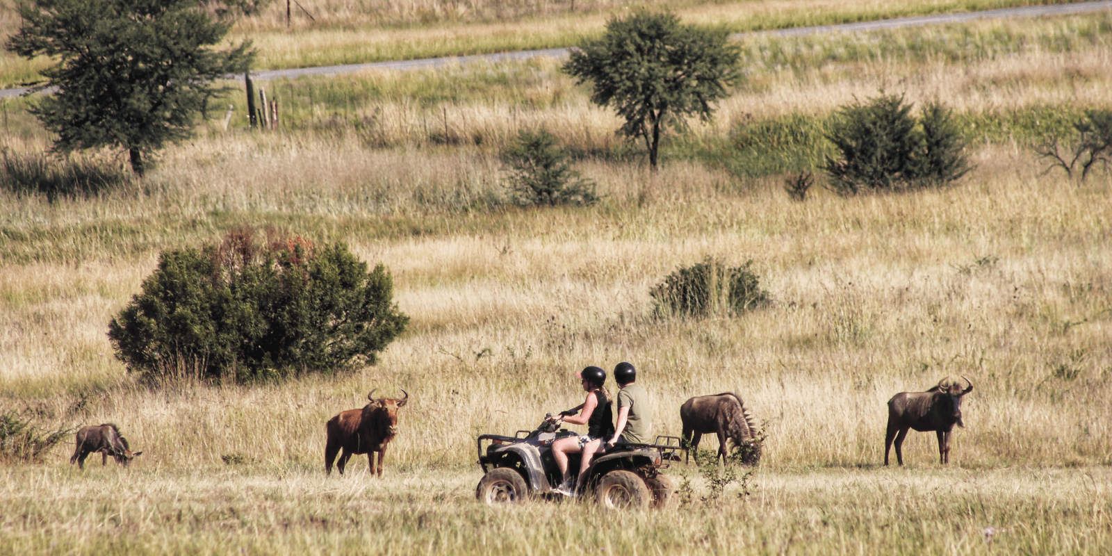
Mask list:
[{"label": "reddish-brown wildebeest facing the camera, left of the quad bike", "polygon": [[[383,458],[386,457],[386,445],[398,434],[398,409],[409,400],[409,393],[401,390],[406,397],[401,399],[375,399],[375,390],[370,390],[367,404],[363,409],[348,409],[328,419],[325,429],[328,440],[325,444],[325,473],[331,475],[332,460],[344,448],[336,468],[344,475],[344,467],[353,454],[366,454],[367,465],[371,474],[383,476]],[[375,453],[378,453],[378,469],[375,469]]]}]

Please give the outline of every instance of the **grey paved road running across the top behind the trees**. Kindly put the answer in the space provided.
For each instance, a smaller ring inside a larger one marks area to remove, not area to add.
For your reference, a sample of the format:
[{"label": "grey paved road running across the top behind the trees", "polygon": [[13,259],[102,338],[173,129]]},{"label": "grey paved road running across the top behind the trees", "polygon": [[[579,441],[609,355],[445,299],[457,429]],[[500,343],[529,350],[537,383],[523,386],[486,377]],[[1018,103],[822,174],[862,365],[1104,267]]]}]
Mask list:
[{"label": "grey paved road running across the top behind the trees", "polygon": [[[1089,11],[1112,10],[1112,0],[1095,2],[1079,2],[1054,6],[1029,6],[1025,8],[1005,8],[1002,10],[974,11],[967,13],[946,13],[942,16],[922,16],[917,18],[885,19],[882,21],[865,21],[862,23],[845,23],[840,26],[800,27],[795,29],[781,29],[776,31],[757,31],[752,33],[735,33],[732,38],[741,38],[747,34],[774,34],[780,37],[800,37],[804,34],[831,32],[831,31],[876,31],[880,29],[895,29],[909,26],[926,26],[937,23],[961,23],[975,19],[985,18],[1021,18],[1037,16],[1058,16],[1063,13],[1082,13]],[[529,58],[547,56],[550,58],[563,58],[568,56],[567,48],[553,48],[548,50],[525,50],[520,52],[504,52],[498,54],[476,54],[448,58],[429,58],[425,60],[400,60],[394,62],[354,63],[349,66],[327,66],[321,68],[299,68],[287,70],[256,71],[251,73],[252,79],[268,80],[278,78],[297,78],[301,76],[336,76],[338,73],[351,73],[369,69],[396,69],[414,70],[423,68],[439,68],[443,66],[468,63],[484,60],[488,62],[499,62],[509,60],[527,60]],[[242,79],[242,76],[238,76]],[[2,89],[0,98],[22,95],[30,89]]]}]

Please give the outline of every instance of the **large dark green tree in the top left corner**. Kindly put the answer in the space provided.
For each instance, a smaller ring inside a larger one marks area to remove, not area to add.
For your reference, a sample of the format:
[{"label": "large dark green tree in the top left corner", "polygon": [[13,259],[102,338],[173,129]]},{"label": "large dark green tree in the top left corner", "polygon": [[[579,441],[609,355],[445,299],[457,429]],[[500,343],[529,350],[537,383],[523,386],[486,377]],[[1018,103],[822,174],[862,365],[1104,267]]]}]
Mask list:
[{"label": "large dark green tree in the top left corner", "polygon": [[57,60],[32,92],[58,92],[31,108],[58,135],[54,150],[122,148],[140,176],[143,153],[188,138],[196,113],[225,90],[214,81],[254,57],[249,41],[209,48],[231,23],[197,0],[31,0],[19,14],[8,50]]}]

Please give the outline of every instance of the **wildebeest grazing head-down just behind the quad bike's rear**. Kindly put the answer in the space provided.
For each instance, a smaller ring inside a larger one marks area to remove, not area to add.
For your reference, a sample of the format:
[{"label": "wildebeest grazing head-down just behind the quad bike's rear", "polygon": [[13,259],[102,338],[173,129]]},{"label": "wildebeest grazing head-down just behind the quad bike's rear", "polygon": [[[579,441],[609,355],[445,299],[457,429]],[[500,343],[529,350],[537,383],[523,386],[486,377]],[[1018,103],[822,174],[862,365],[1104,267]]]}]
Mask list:
[{"label": "wildebeest grazing head-down just behind the quad bike's rear", "polygon": [[723,393],[688,399],[679,407],[679,419],[684,425],[684,440],[691,446],[687,450],[688,461],[691,450],[698,449],[699,439],[704,434],[711,433],[718,435],[718,456],[723,463],[726,461],[727,438],[737,446],[751,446],[742,461],[745,465],[756,464],[761,459],[761,447],[749,444],[756,437],[753,417],[736,394]]}]

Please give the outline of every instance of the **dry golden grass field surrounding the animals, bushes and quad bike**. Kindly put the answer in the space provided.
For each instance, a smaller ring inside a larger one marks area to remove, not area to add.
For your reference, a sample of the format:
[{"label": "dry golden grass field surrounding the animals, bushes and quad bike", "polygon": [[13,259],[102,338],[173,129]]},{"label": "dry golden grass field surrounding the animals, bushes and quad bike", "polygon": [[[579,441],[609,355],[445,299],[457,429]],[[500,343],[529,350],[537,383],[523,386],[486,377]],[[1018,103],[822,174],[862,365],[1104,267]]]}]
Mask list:
[{"label": "dry golden grass field surrounding the animals, bushes and quad bike", "polygon": [[[1109,108],[1109,18],[906,30],[883,36],[903,54],[806,67],[768,60],[876,39],[754,39],[746,83],[683,141],[830,113],[881,89],[942,99],[970,121]],[[915,53],[954,33],[967,56]],[[486,93],[473,87],[484,80],[496,82]],[[453,82],[455,96],[429,92]],[[0,409],[44,429],[113,421],[143,450],[128,469],[90,458],[79,471],[69,440],[42,461],[0,461],[0,554],[1112,552],[1109,172],[1070,182],[1025,139],[986,132],[955,187],[854,198],[816,187],[796,202],[783,176],[691,158],[649,175],[556,62],[274,87],[290,98],[316,87],[320,105],[291,106],[298,126],[280,132],[202,127],[115,190],[0,191]],[[329,88],[371,92],[336,113],[319,97]],[[11,106],[6,155],[43,150],[48,138]],[[507,202],[498,150],[537,126],[587,153],[576,168],[600,203]],[[112,355],[109,319],[160,250],[237,226],[344,240],[385,264],[409,330],[353,373],[136,383]],[[774,302],[655,318],[649,289],[705,256],[752,259]],[[691,396],[745,398],[768,435],[748,494],[735,484],[703,502],[707,485],[678,465],[669,473],[693,490],[669,509],[474,500],[477,434],[532,428],[582,400],[573,371],[622,360],[637,366],[661,434],[679,433]],[[937,465],[934,435],[912,433],[907,466],[882,467],[885,401],[947,375],[975,387],[951,465]],[[325,420],[399,387],[411,398],[386,477],[359,458],[356,473],[326,477]]]}]

